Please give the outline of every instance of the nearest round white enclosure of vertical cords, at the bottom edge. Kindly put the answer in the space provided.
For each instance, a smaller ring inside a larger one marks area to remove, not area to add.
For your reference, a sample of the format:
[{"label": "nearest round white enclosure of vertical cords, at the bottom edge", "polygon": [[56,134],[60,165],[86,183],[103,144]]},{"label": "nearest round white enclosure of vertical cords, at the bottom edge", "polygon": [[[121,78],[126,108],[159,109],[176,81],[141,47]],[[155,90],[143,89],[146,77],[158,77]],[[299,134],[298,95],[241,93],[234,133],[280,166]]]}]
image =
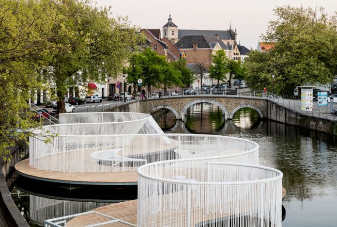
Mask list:
[{"label": "nearest round white enclosure of vertical cords, at the bottom edge", "polygon": [[280,227],[282,173],[204,159],[138,168],[138,226]]}]

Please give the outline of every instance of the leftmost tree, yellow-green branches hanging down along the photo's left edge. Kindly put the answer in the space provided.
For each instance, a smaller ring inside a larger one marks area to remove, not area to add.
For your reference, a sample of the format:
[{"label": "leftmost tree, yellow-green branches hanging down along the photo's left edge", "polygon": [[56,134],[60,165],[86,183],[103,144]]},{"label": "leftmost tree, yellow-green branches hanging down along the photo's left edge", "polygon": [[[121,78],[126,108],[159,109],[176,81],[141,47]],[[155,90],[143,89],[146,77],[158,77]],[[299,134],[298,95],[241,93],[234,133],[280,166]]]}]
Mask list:
[{"label": "leftmost tree, yellow-green branches hanging down along the photo's left edge", "polygon": [[28,101],[45,90],[42,68],[53,39],[51,1],[0,2],[0,155],[8,158],[8,147],[26,141],[32,120]]}]

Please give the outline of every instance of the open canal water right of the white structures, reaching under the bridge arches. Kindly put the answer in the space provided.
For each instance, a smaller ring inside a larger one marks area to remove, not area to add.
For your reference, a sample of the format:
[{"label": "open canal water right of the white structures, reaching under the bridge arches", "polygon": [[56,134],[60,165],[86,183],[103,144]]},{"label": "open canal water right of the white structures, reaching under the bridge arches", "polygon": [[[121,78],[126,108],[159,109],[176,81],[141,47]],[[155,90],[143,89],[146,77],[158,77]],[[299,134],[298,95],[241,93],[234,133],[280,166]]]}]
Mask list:
[{"label": "open canal water right of the white structures, reaching under the bridge arches", "polygon": [[[226,135],[258,143],[260,164],[284,174],[287,194],[282,203],[286,208],[282,227],[337,226],[336,137],[259,120],[258,113],[249,108],[224,122],[216,106],[198,105],[187,111],[185,123],[167,125],[166,132]],[[170,117],[174,115],[167,114]]]}]

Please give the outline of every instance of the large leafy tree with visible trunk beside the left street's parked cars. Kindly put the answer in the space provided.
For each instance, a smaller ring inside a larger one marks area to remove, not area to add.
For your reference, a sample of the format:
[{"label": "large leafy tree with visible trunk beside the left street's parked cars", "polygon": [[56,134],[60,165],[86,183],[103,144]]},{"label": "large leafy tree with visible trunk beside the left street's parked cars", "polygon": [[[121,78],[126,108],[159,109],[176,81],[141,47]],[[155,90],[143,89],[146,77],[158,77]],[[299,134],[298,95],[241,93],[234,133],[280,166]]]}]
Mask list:
[{"label": "large leafy tree with visible trunk beside the left street's parked cars", "polygon": [[69,87],[88,81],[106,81],[122,71],[130,47],[137,43],[136,29],[126,18],[110,17],[110,8],[97,8],[89,0],[55,1],[57,15],[53,26],[57,39],[49,65],[55,82],[58,110],[64,113]]}]

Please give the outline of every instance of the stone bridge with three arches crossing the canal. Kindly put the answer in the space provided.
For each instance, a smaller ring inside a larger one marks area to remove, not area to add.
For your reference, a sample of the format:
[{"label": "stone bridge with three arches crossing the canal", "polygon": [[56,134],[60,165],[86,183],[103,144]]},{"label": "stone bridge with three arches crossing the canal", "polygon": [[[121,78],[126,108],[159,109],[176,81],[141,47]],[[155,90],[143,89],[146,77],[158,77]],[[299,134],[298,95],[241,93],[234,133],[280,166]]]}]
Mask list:
[{"label": "stone bridge with three arches crossing the canal", "polygon": [[139,102],[141,113],[151,114],[161,108],[171,110],[177,119],[184,120],[186,110],[194,104],[207,102],[222,109],[225,120],[232,119],[233,114],[241,108],[256,110],[260,118],[267,116],[267,100],[259,97],[170,97],[147,99]]}]

